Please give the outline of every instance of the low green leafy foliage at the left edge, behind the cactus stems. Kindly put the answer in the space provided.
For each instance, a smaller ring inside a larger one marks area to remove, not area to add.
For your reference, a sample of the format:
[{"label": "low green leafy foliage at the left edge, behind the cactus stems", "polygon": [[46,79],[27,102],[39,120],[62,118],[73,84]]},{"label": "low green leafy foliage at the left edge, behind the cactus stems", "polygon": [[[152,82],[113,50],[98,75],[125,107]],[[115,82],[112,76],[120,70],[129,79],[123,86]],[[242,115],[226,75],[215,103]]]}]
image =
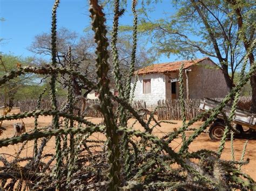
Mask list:
[{"label": "low green leafy foliage at the left edge, behind the cactus stems", "polygon": [[[5,73],[11,72],[11,70],[18,69],[25,66],[37,66],[37,60],[34,58],[22,58],[21,56],[14,56],[12,54],[2,55],[2,65],[0,65],[0,76]],[[10,80],[8,83],[0,87],[0,100],[9,104],[9,101],[18,101],[25,99],[36,99],[39,97],[41,92],[49,84],[41,81],[41,75],[36,74],[23,74],[18,76],[16,79]],[[6,88],[6,89],[5,89]],[[57,95],[65,96],[66,91],[57,84]],[[44,96],[49,96],[49,92],[46,92]],[[2,106],[2,105],[1,105]]]}]

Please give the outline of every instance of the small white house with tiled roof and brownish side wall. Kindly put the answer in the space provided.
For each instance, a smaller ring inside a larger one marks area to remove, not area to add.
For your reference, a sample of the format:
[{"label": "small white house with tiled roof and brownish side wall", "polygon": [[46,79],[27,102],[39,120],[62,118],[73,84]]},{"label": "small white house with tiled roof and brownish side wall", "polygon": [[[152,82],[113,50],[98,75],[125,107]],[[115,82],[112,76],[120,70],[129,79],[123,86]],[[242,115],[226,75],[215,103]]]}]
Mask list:
[{"label": "small white house with tiled roof and brownish side wall", "polygon": [[157,105],[159,100],[179,98],[179,69],[182,63],[185,98],[224,97],[228,93],[222,70],[210,58],[202,58],[159,63],[137,70],[134,100],[144,100],[150,106]]}]

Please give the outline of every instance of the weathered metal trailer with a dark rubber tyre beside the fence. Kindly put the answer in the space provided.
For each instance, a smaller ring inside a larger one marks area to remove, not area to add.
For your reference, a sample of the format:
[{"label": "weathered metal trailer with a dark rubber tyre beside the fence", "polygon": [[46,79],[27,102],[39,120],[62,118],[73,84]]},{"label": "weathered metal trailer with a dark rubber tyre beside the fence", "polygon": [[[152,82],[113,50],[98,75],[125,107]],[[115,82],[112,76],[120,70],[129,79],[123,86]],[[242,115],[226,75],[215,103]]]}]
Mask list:
[{"label": "weathered metal trailer with a dark rubber tyre beside the fence", "polygon": [[[220,103],[211,100],[209,98],[204,98],[200,100],[199,111],[208,111],[212,108],[216,108]],[[230,116],[231,107],[226,105],[222,113],[220,113],[217,118],[214,119],[213,124],[209,129],[209,136],[213,140],[220,140],[223,136],[225,130],[225,121],[223,114],[227,117]],[[255,133],[256,132],[256,114],[251,111],[237,108],[235,110],[235,115],[233,117],[232,126],[236,130],[236,133],[243,135],[244,133]],[[247,131],[244,131],[243,127],[249,128]]]}]

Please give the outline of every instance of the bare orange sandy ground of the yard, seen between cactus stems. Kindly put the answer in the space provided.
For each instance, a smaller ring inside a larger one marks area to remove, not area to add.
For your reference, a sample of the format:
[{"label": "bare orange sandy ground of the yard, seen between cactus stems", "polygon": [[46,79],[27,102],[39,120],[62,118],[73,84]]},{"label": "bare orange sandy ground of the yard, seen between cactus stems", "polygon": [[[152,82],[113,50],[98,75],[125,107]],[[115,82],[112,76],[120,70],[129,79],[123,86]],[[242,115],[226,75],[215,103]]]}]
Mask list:
[{"label": "bare orange sandy ground of the yard, seen between cactus stems", "polygon": [[[12,111],[12,112],[17,112],[17,111]],[[1,114],[1,112],[0,112]],[[87,118],[89,121],[92,121],[94,123],[100,123],[102,122],[102,118]],[[34,126],[34,119],[31,118],[26,118],[23,119],[25,126],[26,126],[26,131],[28,132],[29,130],[33,129]],[[4,121],[3,125],[6,130],[3,132],[3,135],[0,136],[1,139],[7,138],[7,137],[12,137],[14,135],[14,129],[12,125],[16,122],[21,122],[19,120],[13,120],[13,121]],[[38,118],[39,122],[39,127],[47,126],[51,123],[51,117],[45,117],[45,116],[40,116]],[[134,119],[129,120],[129,125],[132,125],[134,122]],[[172,132],[174,128],[179,128],[181,126],[181,121],[172,121],[177,124],[161,124],[161,127],[156,127],[153,130],[153,134],[162,137],[166,135],[169,132]],[[199,128],[199,126],[203,122],[196,122],[190,128]],[[152,123],[154,124],[154,123]],[[143,130],[142,126],[140,126],[139,123],[136,123],[134,125],[134,129],[136,130]],[[192,134],[192,131],[186,132],[186,136],[190,136]],[[92,138],[95,139],[105,139],[104,135],[101,135],[100,133],[94,133]],[[235,139],[234,140],[234,151],[235,151],[235,159],[239,160],[241,157],[241,152],[242,148],[244,146],[244,143],[246,142],[246,139]],[[171,147],[173,148],[174,151],[178,151],[180,148],[180,143],[181,139],[177,138],[174,139],[174,141],[171,143]],[[12,160],[13,157],[15,156],[15,153],[17,153],[19,147],[21,147],[21,143],[16,144],[16,145],[9,145],[8,147],[1,147],[0,148],[0,155],[4,155],[4,157],[8,158],[8,160]],[[22,152],[21,157],[25,156],[31,156],[32,151],[33,151],[33,142],[29,142],[25,148],[25,151]],[[213,151],[217,151],[219,147],[219,141],[213,141],[210,139],[208,134],[202,133],[199,137],[196,138],[196,140],[190,145],[189,151],[198,151],[201,149],[209,149]],[[256,140],[248,140],[248,145],[245,153],[245,159],[250,158],[250,163],[248,165],[245,165],[242,167],[245,173],[249,174],[254,180],[256,180]],[[47,144],[45,147],[44,153],[55,153],[55,138],[51,138],[50,142]],[[223,154],[221,155],[221,158],[231,160],[231,147],[230,147],[230,141],[226,141],[225,149]],[[45,159],[46,160],[46,159]],[[0,162],[1,166],[1,162]]]}]

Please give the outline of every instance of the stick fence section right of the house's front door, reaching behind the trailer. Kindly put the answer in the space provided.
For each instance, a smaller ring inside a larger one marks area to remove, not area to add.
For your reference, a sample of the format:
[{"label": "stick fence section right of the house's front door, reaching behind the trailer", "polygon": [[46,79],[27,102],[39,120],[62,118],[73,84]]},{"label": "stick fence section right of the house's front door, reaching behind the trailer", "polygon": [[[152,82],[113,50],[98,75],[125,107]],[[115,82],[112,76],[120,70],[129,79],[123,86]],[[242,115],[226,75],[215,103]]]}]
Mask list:
[{"label": "stick fence section right of the house's front door, reaching behind the trailer", "polygon": [[[223,98],[214,98],[216,101],[222,101]],[[200,99],[185,100],[185,116],[186,120],[191,120],[200,112],[198,111]],[[250,110],[252,99],[251,97],[240,97],[238,107],[241,109]],[[158,120],[181,120],[181,106],[179,100],[159,100],[158,101]]]}]

